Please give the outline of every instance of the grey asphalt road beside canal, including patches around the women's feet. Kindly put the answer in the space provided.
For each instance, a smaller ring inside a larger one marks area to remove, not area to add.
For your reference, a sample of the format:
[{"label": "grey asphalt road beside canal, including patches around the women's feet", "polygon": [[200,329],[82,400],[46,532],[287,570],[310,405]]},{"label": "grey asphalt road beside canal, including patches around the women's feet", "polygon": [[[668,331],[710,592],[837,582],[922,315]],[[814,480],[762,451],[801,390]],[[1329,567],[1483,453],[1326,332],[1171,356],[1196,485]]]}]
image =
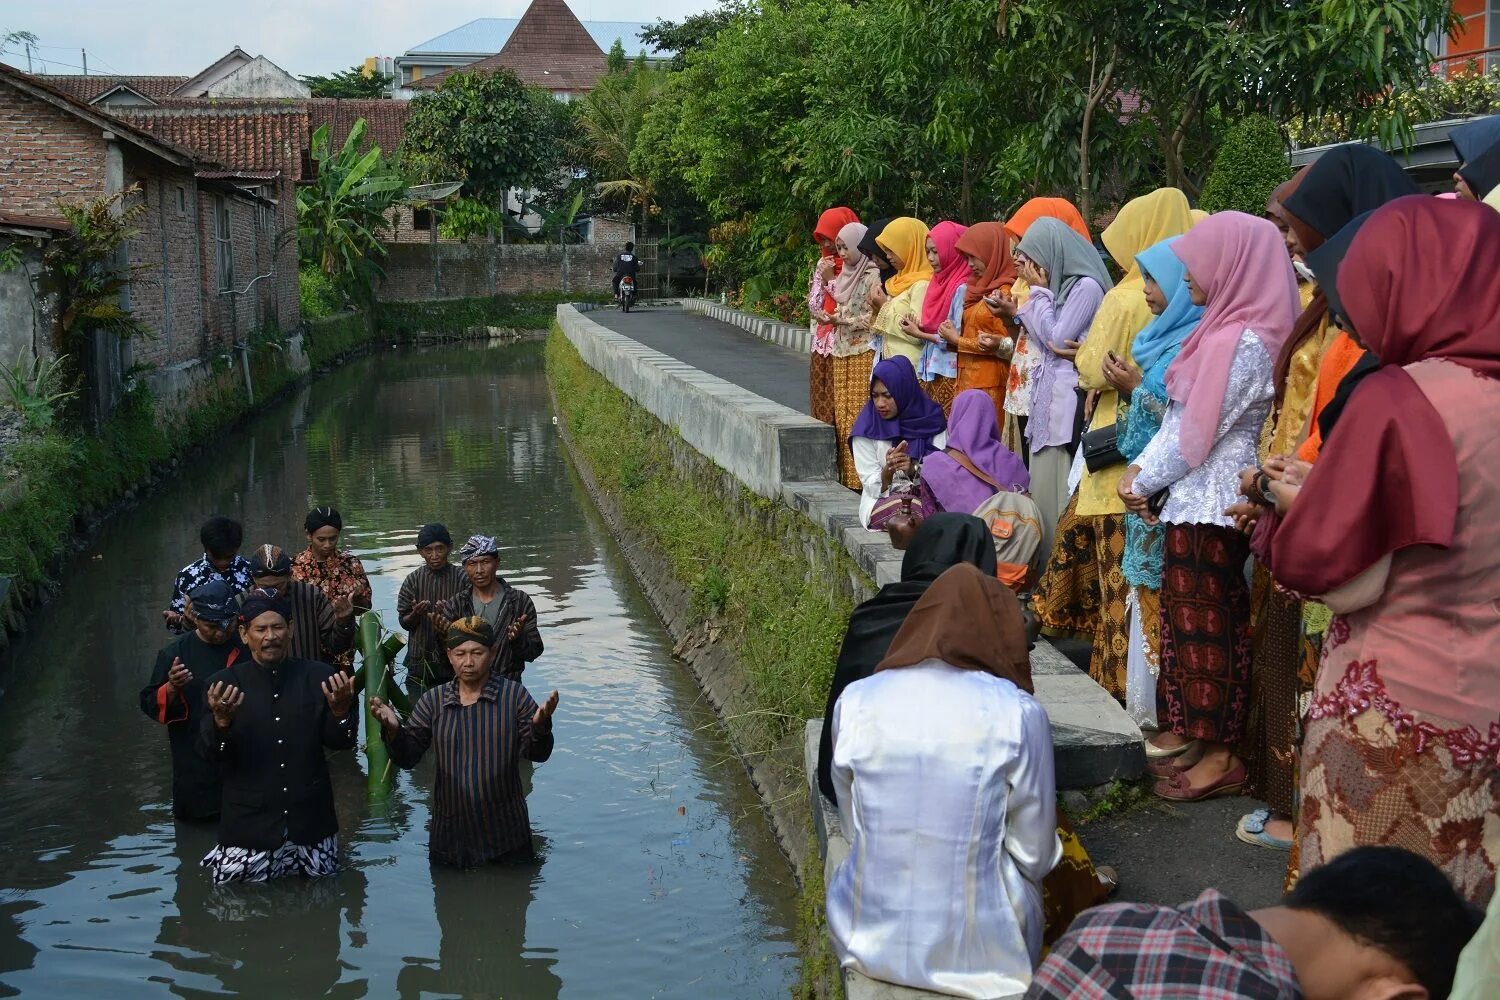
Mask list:
[{"label": "grey asphalt road beside canal, including patches around the women's feet", "polygon": [[[800,412],[807,412],[807,357],[740,327],[684,312],[646,307],[630,315],[600,309],[590,319]],[[1054,645],[1080,669],[1089,643]],[[1245,907],[1281,898],[1287,856],[1234,840],[1234,823],[1260,802],[1245,798],[1149,805],[1078,828],[1095,864],[1120,874],[1118,900],[1186,903],[1215,888]]]}]

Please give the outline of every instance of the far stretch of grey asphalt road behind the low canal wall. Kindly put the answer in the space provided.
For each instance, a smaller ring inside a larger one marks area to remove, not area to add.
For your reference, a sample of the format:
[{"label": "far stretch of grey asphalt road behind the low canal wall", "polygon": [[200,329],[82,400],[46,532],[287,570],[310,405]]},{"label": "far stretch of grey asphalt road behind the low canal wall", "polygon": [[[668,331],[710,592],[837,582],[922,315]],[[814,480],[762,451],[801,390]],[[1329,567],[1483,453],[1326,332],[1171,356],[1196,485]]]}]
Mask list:
[{"label": "far stretch of grey asphalt road behind the low canal wall", "polygon": [[808,412],[806,354],[676,306],[638,306],[628,315],[618,309],[598,309],[588,318],[700,372],[774,399],[800,414]]}]

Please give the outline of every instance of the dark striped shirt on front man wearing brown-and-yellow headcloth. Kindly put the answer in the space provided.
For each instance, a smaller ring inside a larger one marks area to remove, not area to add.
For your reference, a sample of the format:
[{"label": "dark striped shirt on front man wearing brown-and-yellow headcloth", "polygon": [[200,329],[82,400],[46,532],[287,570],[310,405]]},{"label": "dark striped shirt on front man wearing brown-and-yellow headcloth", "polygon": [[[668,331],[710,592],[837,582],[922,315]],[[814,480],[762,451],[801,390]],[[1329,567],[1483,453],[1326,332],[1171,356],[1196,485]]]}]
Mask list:
[{"label": "dark striped shirt on front man wearing brown-and-yellow headcloth", "polygon": [[532,730],[537,703],[516,681],[490,673],[472,705],[458,681],[424,693],[396,736],[392,760],[416,768],[429,747],[438,751],[428,852],[444,865],[472,868],[531,847],[531,816],[520,784],[520,760],[552,756],[552,727]]}]

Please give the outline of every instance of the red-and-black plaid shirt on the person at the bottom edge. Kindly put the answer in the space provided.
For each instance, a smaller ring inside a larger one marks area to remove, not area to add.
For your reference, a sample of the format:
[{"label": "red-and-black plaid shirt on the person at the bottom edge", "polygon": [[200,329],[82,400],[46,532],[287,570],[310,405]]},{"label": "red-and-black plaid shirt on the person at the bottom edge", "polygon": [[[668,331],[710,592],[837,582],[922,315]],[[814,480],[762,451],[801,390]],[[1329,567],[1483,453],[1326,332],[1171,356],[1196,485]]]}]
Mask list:
[{"label": "red-and-black plaid shirt on the person at the bottom edge", "polygon": [[1209,889],[1182,907],[1088,910],[1052,948],[1028,1000],[1299,1000],[1292,960],[1248,913]]}]

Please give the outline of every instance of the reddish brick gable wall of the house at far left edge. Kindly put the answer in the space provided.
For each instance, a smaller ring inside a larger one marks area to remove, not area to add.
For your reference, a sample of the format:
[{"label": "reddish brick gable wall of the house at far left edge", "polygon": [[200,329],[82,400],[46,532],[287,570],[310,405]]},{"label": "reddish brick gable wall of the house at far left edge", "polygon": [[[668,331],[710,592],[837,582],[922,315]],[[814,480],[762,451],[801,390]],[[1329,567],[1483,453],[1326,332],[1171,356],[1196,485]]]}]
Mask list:
[{"label": "reddish brick gable wall of the house at far left edge", "polygon": [[60,198],[98,198],[104,147],[98,127],[0,84],[0,210],[56,216]]}]

